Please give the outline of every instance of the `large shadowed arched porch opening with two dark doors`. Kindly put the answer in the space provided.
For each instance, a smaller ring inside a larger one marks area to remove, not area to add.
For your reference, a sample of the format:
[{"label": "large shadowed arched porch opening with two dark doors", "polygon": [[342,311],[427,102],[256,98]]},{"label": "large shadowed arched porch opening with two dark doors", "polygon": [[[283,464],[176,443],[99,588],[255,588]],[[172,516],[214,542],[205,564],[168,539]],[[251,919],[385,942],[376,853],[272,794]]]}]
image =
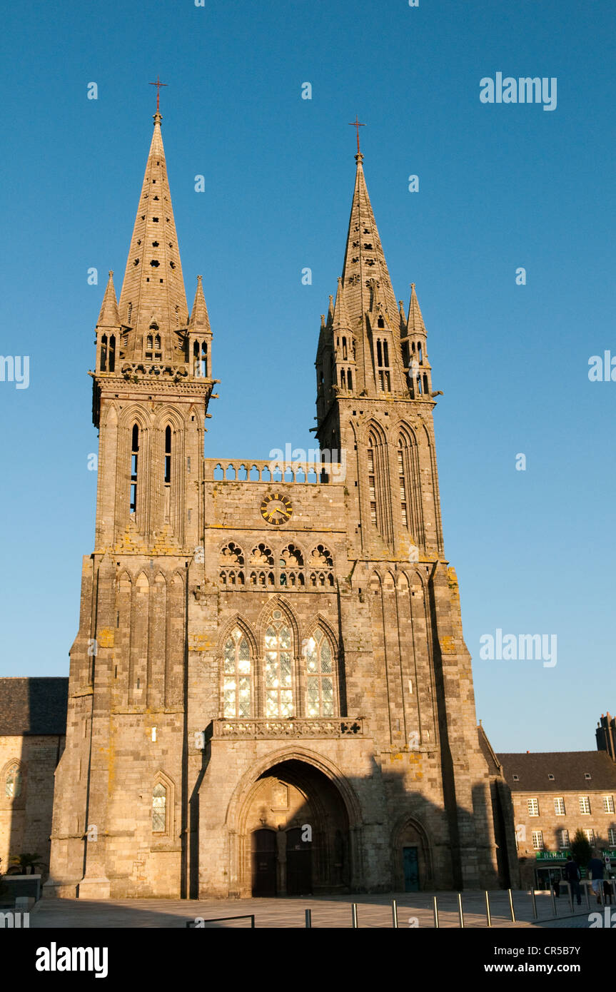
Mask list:
[{"label": "large shadowed arched porch opening with two dark doors", "polygon": [[251,853],[244,891],[298,896],[349,886],[346,806],[318,769],[298,759],[268,769],[250,790],[243,818]]}]

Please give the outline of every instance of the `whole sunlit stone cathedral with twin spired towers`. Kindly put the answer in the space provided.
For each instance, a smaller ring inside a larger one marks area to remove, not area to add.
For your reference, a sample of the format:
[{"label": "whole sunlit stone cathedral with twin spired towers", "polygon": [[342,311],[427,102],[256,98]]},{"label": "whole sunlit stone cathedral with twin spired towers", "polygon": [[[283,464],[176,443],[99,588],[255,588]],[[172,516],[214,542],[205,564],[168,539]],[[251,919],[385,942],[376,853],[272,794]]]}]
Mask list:
[{"label": "whole sunlit stone cathedral with twin spired towers", "polygon": [[415,286],[407,310],[394,296],[359,145],[318,457],[230,459],[205,446],[219,380],[161,121],[96,324],[94,550],[45,894],[515,884],[443,549],[427,330]]}]

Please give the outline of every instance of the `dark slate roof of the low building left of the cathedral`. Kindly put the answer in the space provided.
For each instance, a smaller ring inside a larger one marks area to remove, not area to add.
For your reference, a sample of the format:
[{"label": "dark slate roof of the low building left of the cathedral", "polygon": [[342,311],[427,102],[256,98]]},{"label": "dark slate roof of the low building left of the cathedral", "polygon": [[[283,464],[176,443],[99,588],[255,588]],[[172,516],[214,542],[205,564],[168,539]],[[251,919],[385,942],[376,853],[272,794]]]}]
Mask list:
[{"label": "dark slate roof of the low building left of the cathedral", "polygon": [[65,734],[68,679],[0,679],[0,736]]}]

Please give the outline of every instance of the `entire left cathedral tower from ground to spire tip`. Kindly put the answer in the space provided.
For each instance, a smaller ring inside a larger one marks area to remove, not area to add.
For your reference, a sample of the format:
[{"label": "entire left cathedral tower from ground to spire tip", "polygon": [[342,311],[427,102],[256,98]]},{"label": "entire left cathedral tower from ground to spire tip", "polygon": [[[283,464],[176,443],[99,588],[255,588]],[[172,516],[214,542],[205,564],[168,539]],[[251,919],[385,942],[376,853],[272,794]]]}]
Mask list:
[{"label": "entire left cathedral tower from ground to spire tip", "polygon": [[[204,419],[216,380],[200,276],[191,313],[186,306],[161,122],[157,106],[120,300],[110,272],[89,373],[99,432],[95,540],[70,650],[47,883],[81,898],[108,897],[110,859],[121,860],[136,829],[152,831],[147,813],[135,826],[134,801],[124,805],[117,761],[131,748],[141,748],[131,772],[137,792],[148,795],[154,777],[165,797],[156,838],[171,866],[163,893],[178,892],[185,857],[186,590],[190,568],[202,569],[194,562],[202,561]],[[161,747],[173,755],[166,763]]]}]

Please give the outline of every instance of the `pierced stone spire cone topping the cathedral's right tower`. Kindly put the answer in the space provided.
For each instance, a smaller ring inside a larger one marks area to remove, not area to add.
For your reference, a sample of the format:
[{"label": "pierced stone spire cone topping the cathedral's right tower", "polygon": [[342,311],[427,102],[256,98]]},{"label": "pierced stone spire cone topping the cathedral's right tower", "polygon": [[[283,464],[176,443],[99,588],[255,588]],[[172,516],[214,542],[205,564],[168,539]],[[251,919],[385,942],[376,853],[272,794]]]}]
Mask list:
[{"label": "pierced stone spire cone topping the cathedral's right tower", "polygon": [[342,283],[344,299],[351,320],[356,324],[372,303],[369,280],[376,280],[376,293],[385,306],[392,323],[399,323],[398,306],[387,269],[385,254],[372,212],[363,170],[363,155],[355,156],[357,172],[351,204],[351,216],[344,252]]}]

